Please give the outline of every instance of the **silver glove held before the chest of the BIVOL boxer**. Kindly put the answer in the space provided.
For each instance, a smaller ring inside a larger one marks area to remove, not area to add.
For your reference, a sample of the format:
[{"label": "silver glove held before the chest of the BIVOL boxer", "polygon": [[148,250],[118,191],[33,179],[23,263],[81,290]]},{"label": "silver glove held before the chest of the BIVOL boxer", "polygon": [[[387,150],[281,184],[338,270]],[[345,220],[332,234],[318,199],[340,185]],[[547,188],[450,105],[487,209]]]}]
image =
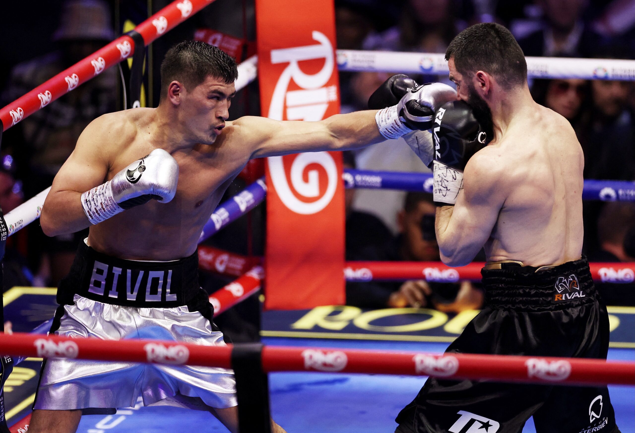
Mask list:
[{"label": "silver glove held before the chest of the BIVOL boxer", "polygon": [[165,150],[154,149],[119,171],[108,182],[84,192],[81,203],[97,224],[151,199],[168,203],[177,192],[178,164]]}]

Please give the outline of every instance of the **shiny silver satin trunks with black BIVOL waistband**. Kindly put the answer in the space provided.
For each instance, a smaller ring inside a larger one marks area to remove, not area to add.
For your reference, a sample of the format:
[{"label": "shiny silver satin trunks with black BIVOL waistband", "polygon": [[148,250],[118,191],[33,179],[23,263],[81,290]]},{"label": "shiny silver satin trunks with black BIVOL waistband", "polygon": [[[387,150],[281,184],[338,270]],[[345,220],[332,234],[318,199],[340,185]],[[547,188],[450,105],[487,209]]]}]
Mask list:
[{"label": "shiny silver satin trunks with black BIVOL waistband", "polygon": [[[51,332],[102,340],[147,338],[225,345],[198,281],[198,254],[172,262],[107,256],[80,243],[58,287]],[[104,342],[104,350],[109,343]],[[236,406],[236,382],[224,368],[53,358],[44,361],[34,409],[116,408],[170,404],[201,410]]]}]

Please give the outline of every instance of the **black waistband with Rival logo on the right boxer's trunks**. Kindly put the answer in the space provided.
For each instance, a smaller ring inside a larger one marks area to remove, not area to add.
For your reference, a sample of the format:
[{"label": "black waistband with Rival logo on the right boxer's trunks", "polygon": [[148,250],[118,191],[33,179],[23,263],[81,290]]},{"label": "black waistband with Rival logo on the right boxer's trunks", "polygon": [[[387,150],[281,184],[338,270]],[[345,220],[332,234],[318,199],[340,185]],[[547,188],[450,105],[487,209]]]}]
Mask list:
[{"label": "black waistband with Rival logo on the right boxer's trunks", "polygon": [[504,263],[482,269],[485,303],[492,307],[553,310],[592,302],[595,286],[585,256],[551,268]]}]

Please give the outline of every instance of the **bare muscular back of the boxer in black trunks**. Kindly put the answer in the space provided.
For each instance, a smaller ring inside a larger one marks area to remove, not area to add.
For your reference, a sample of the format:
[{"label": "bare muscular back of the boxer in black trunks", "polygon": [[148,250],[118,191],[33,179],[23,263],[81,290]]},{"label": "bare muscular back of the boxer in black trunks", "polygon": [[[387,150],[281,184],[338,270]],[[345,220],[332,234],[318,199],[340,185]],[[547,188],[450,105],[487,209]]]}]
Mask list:
[{"label": "bare muscular back of the boxer in black trunks", "polygon": [[501,164],[497,187],[506,194],[485,244],[488,260],[540,266],[580,258],[584,156],[568,121],[535,105],[478,155],[475,163]]}]

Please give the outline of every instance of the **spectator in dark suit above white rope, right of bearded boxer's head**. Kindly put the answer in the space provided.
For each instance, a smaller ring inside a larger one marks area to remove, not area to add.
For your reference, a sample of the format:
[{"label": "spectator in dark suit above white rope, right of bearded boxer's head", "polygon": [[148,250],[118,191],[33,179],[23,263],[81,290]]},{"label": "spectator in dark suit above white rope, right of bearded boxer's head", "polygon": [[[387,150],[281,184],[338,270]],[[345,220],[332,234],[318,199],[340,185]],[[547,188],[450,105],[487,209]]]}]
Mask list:
[{"label": "spectator in dark suit above white rope, right of bearded boxer's head", "polygon": [[599,36],[582,20],[587,0],[538,0],[542,28],[518,39],[526,56],[590,57]]}]

